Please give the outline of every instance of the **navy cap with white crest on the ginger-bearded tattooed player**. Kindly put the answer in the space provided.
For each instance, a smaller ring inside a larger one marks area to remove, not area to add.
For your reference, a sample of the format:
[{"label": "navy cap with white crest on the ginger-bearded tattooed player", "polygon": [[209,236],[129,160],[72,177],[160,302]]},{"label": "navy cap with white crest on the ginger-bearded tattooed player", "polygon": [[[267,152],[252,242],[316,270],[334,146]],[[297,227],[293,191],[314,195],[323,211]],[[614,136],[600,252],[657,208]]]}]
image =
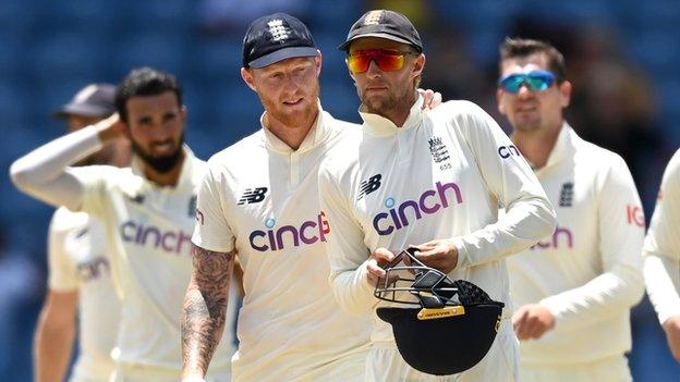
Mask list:
[{"label": "navy cap with white crest on the ginger-bearded tattooed player", "polygon": [[315,57],[319,51],[312,33],[288,13],[255,20],[243,38],[243,67],[265,67],[296,57]]}]

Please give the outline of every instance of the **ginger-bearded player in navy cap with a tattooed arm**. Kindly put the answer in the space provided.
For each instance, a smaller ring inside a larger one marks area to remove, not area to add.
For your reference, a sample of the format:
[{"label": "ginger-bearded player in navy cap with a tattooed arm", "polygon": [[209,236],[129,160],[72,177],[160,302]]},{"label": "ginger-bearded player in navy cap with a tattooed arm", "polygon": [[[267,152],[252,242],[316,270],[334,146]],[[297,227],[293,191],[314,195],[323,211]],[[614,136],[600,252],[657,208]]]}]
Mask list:
[{"label": "ginger-bearded player in navy cap with a tattooed arm", "polygon": [[[241,76],[265,112],[259,131],[210,158],[198,193],[184,381],[203,380],[220,340],[236,252],[245,298],[234,381],[363,379],[369,325],[332,298],[323,251],[330,227],[317,189],[321,159],[360,130],[323,110],[320,70],[321,54],[298,19],[275,13],[250,25]],[[427,95],[428,106],[438,103]]]}]

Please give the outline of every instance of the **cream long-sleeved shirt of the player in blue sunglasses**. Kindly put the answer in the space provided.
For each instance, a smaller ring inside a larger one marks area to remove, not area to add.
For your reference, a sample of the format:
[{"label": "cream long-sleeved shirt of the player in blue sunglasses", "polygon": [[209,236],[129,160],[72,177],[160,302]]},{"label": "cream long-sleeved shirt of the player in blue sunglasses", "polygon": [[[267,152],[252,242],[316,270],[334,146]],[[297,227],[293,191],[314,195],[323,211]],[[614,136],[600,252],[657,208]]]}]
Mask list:
[{"label": "cream long-sleeved shirt of the player in blue sunglasses", "polygon": [[564,123],[536,176],[557,211],[557,229],[508,260],[510,291],[515,308],[539,303],[556,326],[520,344],[522,361],[622,356],[631,348],[630,309],[644,293],[644,215],[630,171]]}]

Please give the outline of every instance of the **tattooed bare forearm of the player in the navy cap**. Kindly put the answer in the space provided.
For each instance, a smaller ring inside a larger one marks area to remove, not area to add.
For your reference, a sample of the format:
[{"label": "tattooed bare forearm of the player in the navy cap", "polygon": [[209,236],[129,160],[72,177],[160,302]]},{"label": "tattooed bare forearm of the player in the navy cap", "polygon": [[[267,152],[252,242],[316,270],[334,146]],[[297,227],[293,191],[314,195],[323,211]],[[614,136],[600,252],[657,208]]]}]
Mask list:
[{"label": "tattooed bare forearm of the player in the navy cap", "polygon": [[192,255],[194,271],[182,311],[182,373],[204,375],[224,330],[235,250],[193,246]]}]

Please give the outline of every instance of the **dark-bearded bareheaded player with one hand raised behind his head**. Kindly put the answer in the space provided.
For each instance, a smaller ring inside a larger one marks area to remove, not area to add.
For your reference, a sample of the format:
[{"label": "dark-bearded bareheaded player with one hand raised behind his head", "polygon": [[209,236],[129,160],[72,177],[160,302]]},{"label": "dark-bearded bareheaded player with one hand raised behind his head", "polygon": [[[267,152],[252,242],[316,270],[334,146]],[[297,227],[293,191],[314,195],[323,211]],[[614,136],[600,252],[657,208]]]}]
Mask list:
[{"label": "dark-bearded bareheaded player with one hand raised behind his head", "polygon": [[[54,206],[99,218],[122,308],[113,381],[178,381],[180,311],[191,278],[191,230],[205,162],[183,145],[186,109],[172,75],[132,71],[118,114],[16,160],[14,184]],[[119,116],[120,115],[120,116]],[[132,168],[71,167],[129,137]],[[210,381],[230,379],[231,349],[217,349]]]}]

